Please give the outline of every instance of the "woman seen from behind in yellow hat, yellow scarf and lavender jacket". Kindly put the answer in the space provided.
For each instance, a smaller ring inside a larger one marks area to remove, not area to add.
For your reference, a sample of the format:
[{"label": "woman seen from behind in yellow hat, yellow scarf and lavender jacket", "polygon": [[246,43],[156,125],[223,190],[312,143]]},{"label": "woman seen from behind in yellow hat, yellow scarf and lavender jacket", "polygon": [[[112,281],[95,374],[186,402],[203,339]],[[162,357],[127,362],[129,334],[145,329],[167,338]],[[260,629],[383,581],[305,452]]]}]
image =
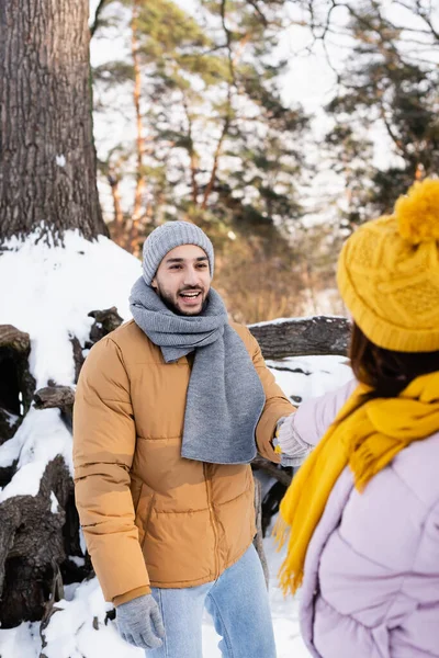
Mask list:
[{"label": "woman seen from behind in yellow hat, yellow scarf and lavender jacket", "polygon": [[317,443],[281,503],[281,583],[316,658],[439,657],[439,181],[347,240],[338,285],[357,382],[281,428],[286,455]]}]

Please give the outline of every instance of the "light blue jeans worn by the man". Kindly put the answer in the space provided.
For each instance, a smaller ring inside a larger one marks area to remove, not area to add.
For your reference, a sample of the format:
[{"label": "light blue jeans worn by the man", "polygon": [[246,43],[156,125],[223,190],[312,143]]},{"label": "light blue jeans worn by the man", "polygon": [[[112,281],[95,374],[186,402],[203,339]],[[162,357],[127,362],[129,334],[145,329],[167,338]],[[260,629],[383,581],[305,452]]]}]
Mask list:
[{"label": "light blue jeans worn by the man", "polygon": [[273,626],[262,567],[251,545],[217,580],[184,589],[153,588],[166,637],[147,658],[202,658],[203,609],[222,636],[224,658],[275,658]]}]

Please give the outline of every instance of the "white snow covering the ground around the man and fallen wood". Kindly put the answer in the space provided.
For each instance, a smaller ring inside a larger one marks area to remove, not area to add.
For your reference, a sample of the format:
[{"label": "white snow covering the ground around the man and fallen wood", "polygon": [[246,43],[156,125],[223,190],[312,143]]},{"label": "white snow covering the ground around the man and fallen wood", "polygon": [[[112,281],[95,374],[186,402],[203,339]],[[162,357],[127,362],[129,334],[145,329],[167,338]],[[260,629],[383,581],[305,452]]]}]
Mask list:
[{"label": "white snow covering the ground around the man and fallen wood", "polygon": [[[88,242],[77,232],[65,236],[65,247],[11,241],[0,257],[0,325],[14,325],[31,336],[31,371],[36,386],[74,385],[70,338],[88,339],[93,322],[88,313],[116,306],[130,317],[128,294],[140,275],[138,261],[106,238]],[[292,399],[320,395],[350,378],[346,360],[338,356],[300,358],[270,362],[280,386]],[[286,368],[286,370],[284,370]],[[295,372],[294,372],[295,371]],[[300,371],[300,372],[297,372]],[[15,436],[0,446],[0,467],[19,460],[20,469],[3,489],[0,502],[18,494],[35,495],[45,465],[56,454],[71,468],[71,436],[57,410],[31,409]],[[56,511],[56,510],[54,510]],[[282,553],[273,540],[264,540],[271,572],[270,599],[279,658],[308,656],[299,633],[297,601],[284,599],[277,585]],[[106,621],[105,603],[95,579],[68,586],[66,600],[45,629],[47,658],[140,658],[142,649],[120,639],[113,622]],[[219,658],[218,638],[209,616],[204,620],[204,656]],[[38,658],[40,625],[23,623],[0,629],[1,658]]]}]

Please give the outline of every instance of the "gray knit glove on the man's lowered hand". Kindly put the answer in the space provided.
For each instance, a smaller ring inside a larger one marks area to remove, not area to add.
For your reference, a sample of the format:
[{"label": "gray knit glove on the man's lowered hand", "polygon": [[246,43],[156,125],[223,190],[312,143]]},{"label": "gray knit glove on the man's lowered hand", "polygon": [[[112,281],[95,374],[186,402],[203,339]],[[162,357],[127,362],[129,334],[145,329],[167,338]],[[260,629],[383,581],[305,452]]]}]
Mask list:
[{"label": "gray knit glove on the man's lowered hand", "polygon": [[165,626],[153,594],[117,605],[116,616],[122,639],[143,649],[161,647]]}]

